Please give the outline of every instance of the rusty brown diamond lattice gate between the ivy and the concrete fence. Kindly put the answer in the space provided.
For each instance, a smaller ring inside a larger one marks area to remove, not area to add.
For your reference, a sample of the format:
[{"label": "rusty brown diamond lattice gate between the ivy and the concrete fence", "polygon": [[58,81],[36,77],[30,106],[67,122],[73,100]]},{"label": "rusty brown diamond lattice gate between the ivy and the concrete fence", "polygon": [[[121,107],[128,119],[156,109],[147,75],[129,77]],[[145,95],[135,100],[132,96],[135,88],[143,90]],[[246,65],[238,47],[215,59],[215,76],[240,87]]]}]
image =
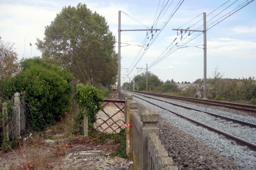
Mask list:
[{"label": "rusty brown diamond lattice gate between the ivy and the concrete fence", "polygon": [[103,133],[118,133],[125,123],[125,101],[104,100],[94,128]]}]

